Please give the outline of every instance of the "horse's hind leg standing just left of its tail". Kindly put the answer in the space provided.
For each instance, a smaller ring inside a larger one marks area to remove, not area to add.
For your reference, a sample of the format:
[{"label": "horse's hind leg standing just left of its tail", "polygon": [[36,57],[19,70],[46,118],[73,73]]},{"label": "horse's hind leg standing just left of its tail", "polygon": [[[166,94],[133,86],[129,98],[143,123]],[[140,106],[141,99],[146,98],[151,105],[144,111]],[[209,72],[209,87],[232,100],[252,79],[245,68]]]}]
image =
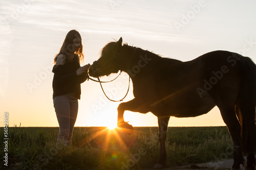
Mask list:
[{"label": "horse's hind leg standing just left of its tail", "polygon": [[[218,106],[219,107],[219,106]],[[233,165],[232,170],[240,169],[240,164],[245,165],[241,147],[241,125],[238,121],[234,107],[219,107],[224,123],[233,140]]]}]

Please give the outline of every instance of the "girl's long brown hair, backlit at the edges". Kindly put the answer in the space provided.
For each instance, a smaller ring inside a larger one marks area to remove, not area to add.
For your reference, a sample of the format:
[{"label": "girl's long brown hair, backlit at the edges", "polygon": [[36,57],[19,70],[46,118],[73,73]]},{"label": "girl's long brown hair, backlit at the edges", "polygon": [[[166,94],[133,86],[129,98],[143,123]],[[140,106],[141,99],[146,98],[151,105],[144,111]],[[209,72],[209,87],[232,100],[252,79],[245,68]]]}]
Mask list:
[{"label": "girl's long brown hair, backlit at the edges", "polygon": [[[74,44],[74,42],[76,40],[80,41],[80,45],[78,47],[76,47],[75,44]],[[59,53],[54,56],[54,64],[56,64],[56,61],[57,61],[57,58],[58,58],[59,54],[65,54],[67,56],[65,63],[70,62],[72,60],[69,57],[71,55],[71,53],[76,54],[75,57],[79,58],[79,63],[83,62],[83,57],[84,56],[83,56],[83,53],[82,53],[82,38],[81,38],[81,35],[76,30],[71,30],[66,35],[66,38],[62,43],[62,46],[60,48]]]}]

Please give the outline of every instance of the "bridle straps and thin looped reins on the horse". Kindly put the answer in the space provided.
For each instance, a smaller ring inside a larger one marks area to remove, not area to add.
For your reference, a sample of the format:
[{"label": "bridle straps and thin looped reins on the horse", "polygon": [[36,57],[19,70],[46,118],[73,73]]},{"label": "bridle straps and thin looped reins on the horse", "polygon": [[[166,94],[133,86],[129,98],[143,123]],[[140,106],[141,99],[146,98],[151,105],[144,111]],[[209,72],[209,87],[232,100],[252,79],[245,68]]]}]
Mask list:
[{"label": "bridle straps and thin looped reins on the horse", "polygon": [[[135,52],[136,52],[136,47],[134,47],[133,59],[132,59],[132,62],[131,62],[131,66],[130,66],[130,67],[132,67],[132,64],[133,64],[133,61],[134,61],[134,58],[135,58]],[[105,69],[106,67],[111,66],[111,64],[114,62],[114,60],[115,60],[116,58],[118,58],[118,57],[119,57],[119,53],[116,54],[115,58],[112,59],[111,62],[108,64],[108,66],[105,66],[103,69]],[[96,63],[96,61],[93,62],[93,64],[95,64],[95,63]],[[97,64],[96,64],[96,65],[97,65]],[[98,72],[101,72],[101,71],[98,71]],[[120,72],[120,74],[121,74],[121,72]],[[120,74],[119,74],[119,75],[120,75]],[[119,75],[118,75],[118,76],[119,76]],[[116,80],[116,79],[118,78],[118,76],[117,76],[115,79],[113,79],[113,80],[111,80],[111,81],[108,81],[108,82],[112,82],[112,81]],[[89,78],[89,79],[90,79],[90,80],[93,80],[93,79],[91,79],[91,78]],[[130,89],[130,82],[131,82],[131,76],[130,76],[130,75],[129,75],[129,85],[128,85],[127,92],[126,92],[126,94],[124,95],[124,97],[123,97],[121,100],[119,100],[119,101],[112,100],[112,99],[110,99],[110,98],[106,95],[106,93],[105,93],[105,91],[104,91],[104,89],[103,89],[101,83],[108,83],[108,82],[101,82],[100,79],[99,79],[99,77],[98,77],[97,79],[98,79],[98,81],[97,81],[97,80],[93,80],[93,81],[99,82],[100,87],[101,87],[101,89],[102,89],[104,95],[106,96],[106,98],[107,98],[108,100],[110,100],[110,101],[112,101],[112,102],[122,102],[122,101],[124,100],[124,98],[126,98],[128,92],[129,92],[129,89]]]}]

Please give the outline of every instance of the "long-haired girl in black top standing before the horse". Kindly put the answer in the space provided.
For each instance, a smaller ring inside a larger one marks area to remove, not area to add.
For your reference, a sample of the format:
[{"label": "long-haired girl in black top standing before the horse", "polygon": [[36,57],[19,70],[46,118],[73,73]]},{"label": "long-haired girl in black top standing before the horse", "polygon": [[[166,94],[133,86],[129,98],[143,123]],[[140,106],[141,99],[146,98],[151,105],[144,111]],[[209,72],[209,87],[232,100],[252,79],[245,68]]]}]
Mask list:
[{"label": "long-haired girl in black top standing before the horse", "polygon": [[83,61],[81,36],[71,30],[57,55],[55,55],[52,72],[54,72],[53,104],[59,123],[59,135],[56,144],[71,145],[71,138],[80,100],[80,84],[88,79],[90,64],[80,67]]}]

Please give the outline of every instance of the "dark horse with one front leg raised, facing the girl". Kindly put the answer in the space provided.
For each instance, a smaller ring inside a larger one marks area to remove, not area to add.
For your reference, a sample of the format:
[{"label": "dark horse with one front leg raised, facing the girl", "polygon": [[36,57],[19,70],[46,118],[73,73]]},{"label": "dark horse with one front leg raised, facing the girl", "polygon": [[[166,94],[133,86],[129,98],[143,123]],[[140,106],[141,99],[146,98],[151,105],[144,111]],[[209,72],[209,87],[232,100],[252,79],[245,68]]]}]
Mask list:
[{"label": "dark horse with one front leg raised, facing the girl", "polygon": [[89,74],[108,76],[119,70],[130,75],[135,98],[118,106],[117,125],[133,129],[124,122],[125,110],[152,112],[158,117],[160,157],[155,168],[167,165],[165,139],[170,116],[195,117],[218,106],[233,140],[232,169],[240,169],[240,164],[255,169],[256,65],[250,58],[214,51],[182,62],[122,45],[120,38],[102,48]]}]

